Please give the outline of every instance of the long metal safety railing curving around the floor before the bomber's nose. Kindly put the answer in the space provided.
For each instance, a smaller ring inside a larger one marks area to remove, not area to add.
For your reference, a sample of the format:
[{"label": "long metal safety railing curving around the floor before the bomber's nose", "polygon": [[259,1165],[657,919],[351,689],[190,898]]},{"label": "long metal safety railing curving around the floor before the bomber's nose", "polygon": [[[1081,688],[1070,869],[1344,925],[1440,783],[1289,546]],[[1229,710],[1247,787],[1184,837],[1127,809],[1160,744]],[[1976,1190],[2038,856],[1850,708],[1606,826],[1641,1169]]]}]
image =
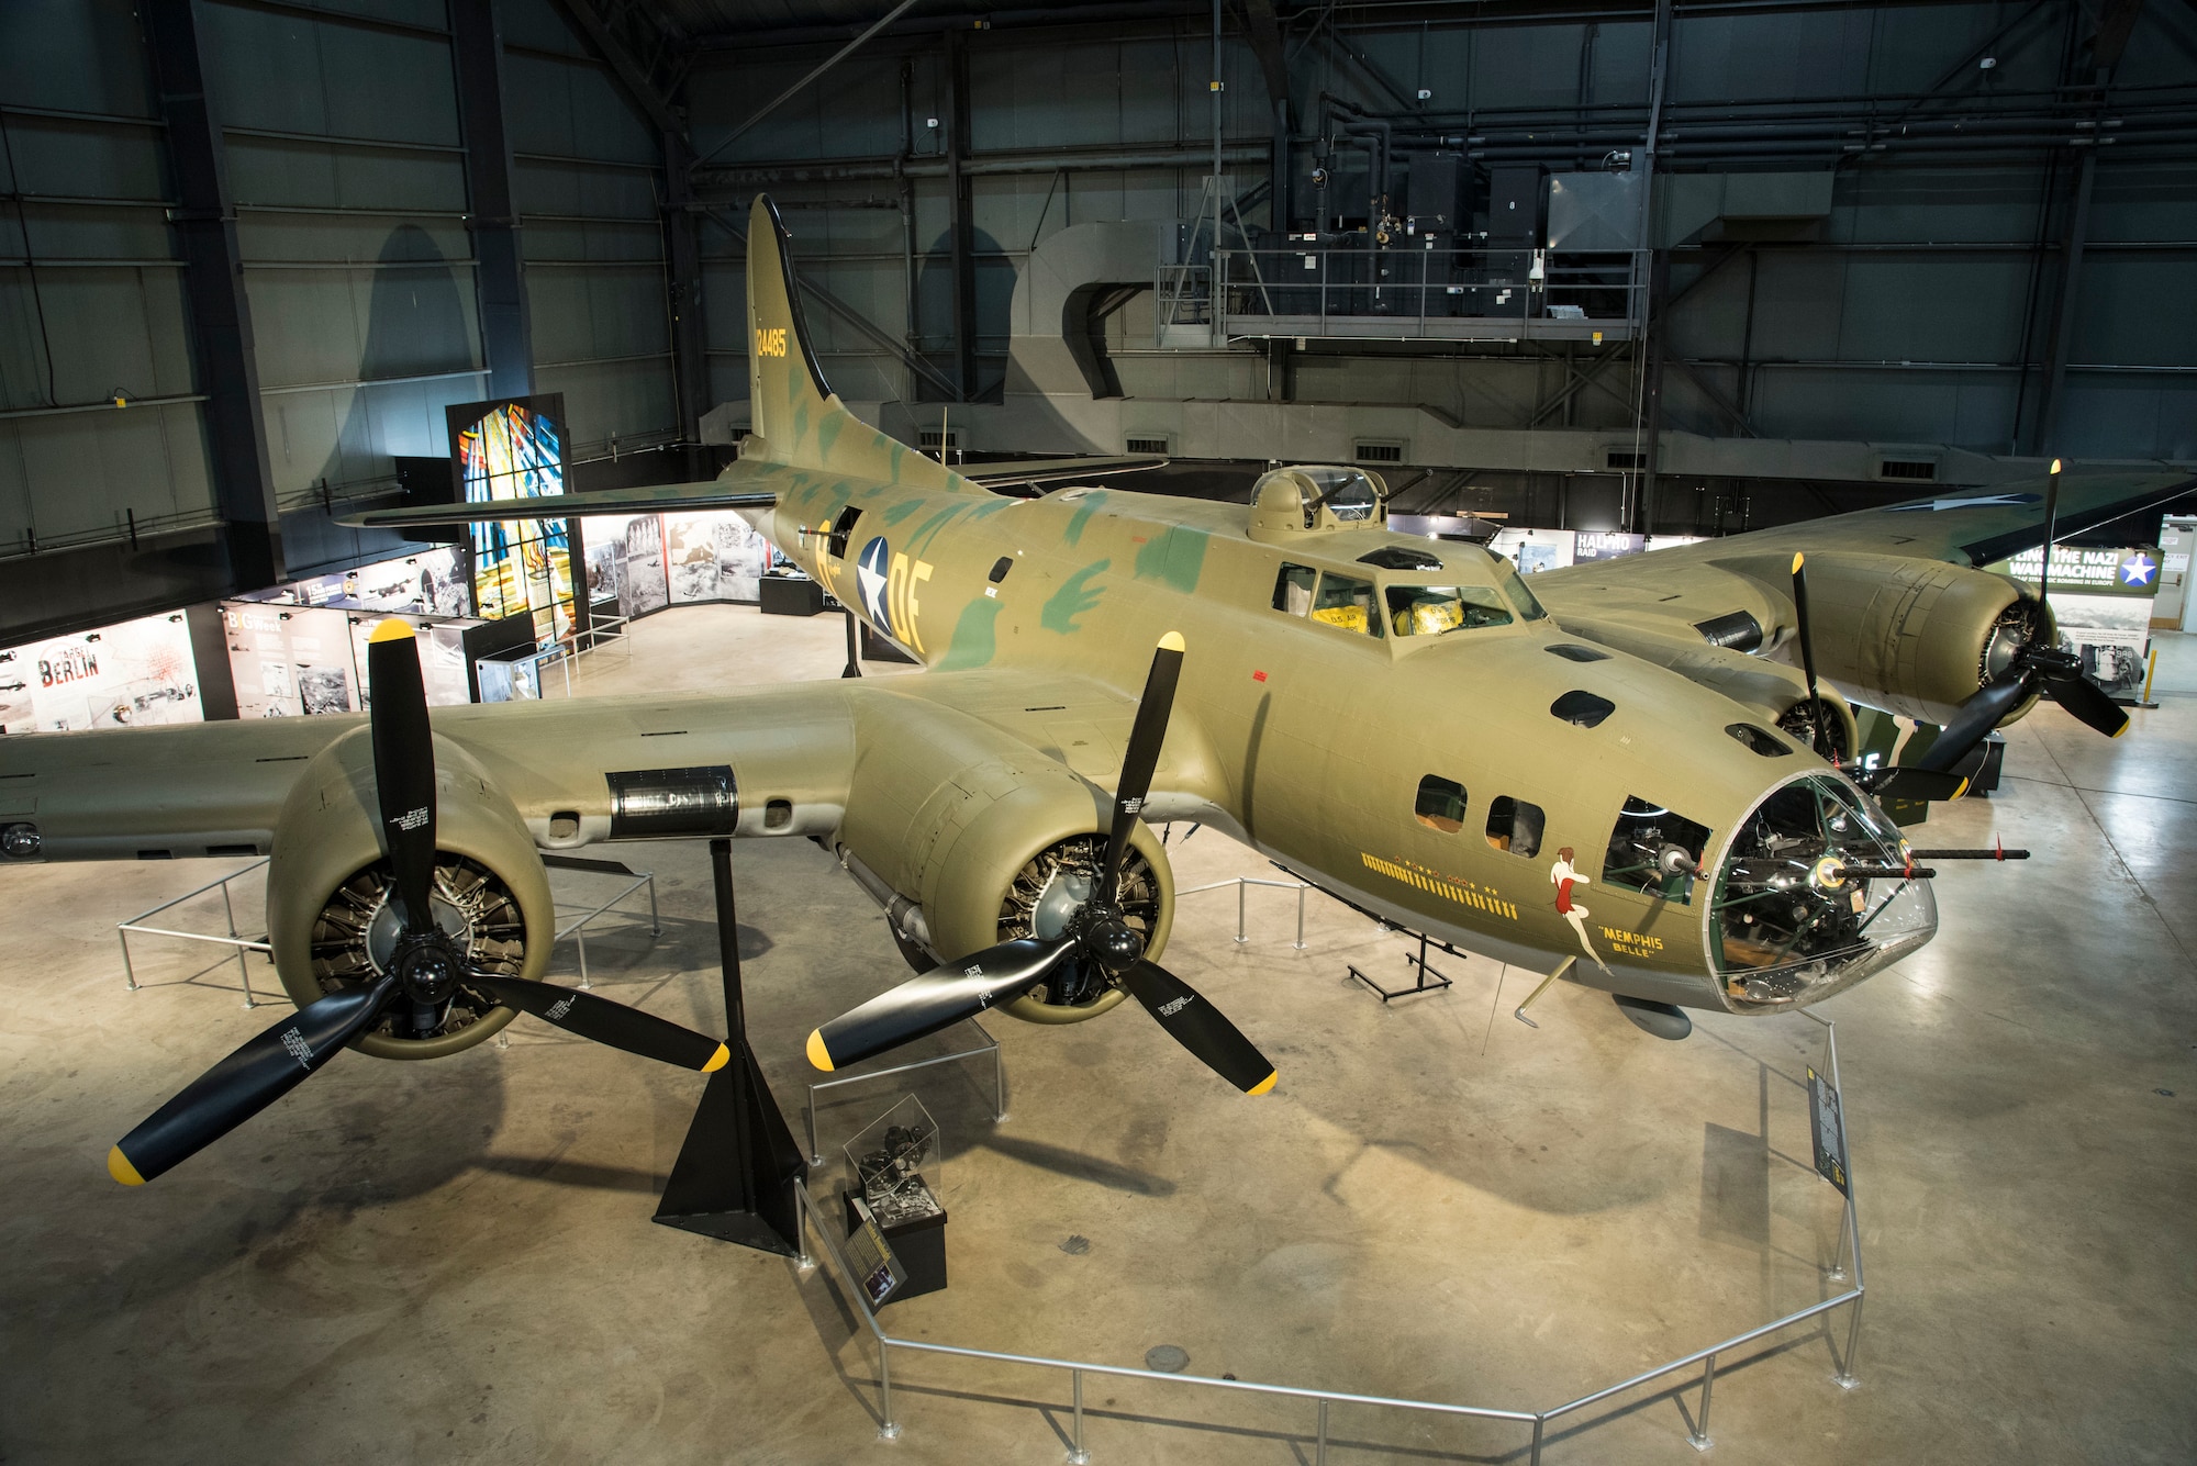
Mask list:
[{"label": "long metal safety railing curving around the floor before the bomber's nose", "polygon": [[[1830,1086],[1839,1091],[1837,1029],[1828,1018],[1817,1018],[1815,1014],[1804,1014],[1804,1016],[1824,1027],[1824,1071],[1830,1075]],[[1843,1091],[1839,1093],[1843,1106]],[[1670,1363],[1657,1365],[1654,1369],[1643,1369],[1630,1378],[1617,1380],[1615,1385],[1606,1385],[1604,1389],[1588,1391],[1584,1396],[1564,1400],[1562,1405],[1553,1405],[1547,1409],[1498,1409],[1485,1405],[1454,1405],[1446,1400],[1367,1396],[1342,1389],[1307,1389],[1301,1385],[1265,1385],[1257,1380],[1211,1378],[1202,1374],[1162,1374],[1158,1369],[1136,1369],[1129,1365],[1101,1365],[1092,1361],[1048,1358],[1041,1354],[975,1350],[956,1343],[940,1343],[936,1339],[903,1339],[899,1334],[888,1334],[877,1319],[877,1310],[870,1306],[868,1297],[863,1297],[863,1290],[859,1286],[859,1275],[855,1273],[852,1264],[848,1264],[846,1251],[833,1236],[830,1216],[815,1203],[804,1183],[795,1183],[795,1196],[800,1200],[800,1222],[802,1222],[800,1255],[795,1258],[795,1262],[804,1275],[817,1266],[817,1258],[808,1251],[808,1233],[813,1231],[815,1240],[819,1242],[824,1260],[830,1264],[830,1277],[835,1286],[839,1288],[848,1306],[852,1306],[855,1315],[861,1319],[863,1330],[870,1334],[870,1341],[877,1345],[877,1413],[879,1413],[879,1435],[883,1440],[896,1440],[901,1435],[901,1422],[892,1413],[892,1354],[894,1350],[901,1350],[907,1354],[982,1358],[1000,1365],[1019,1365],[1048,1372],[1057,1369],[1066,1374],[1070,1389],[1070,1455],[1068,1455],[1070,1462],[1090,1462],[1090,1446],[1083,1440],[1083,1376],[1096,1374],[1105,1378],[1153,1380],[1158,1385],[1178,1385],[1186,1389],[1233,1389],[1239,1394],[1272,1396],[1283,1400],[1307,1400],[1316,1407],[1314,1429],[1309,1435],[1314,1466],[1327,1466],[1329,1409],[1336,1405],[1415,1411],[1421,1416],[1509,1422],[1520,1426],[1520,1431],[1529,1431],[1529,1442],[1525,1442],[1527,1466],[1540,1466],[1542,1453],[1551,1440],[1551,1424],[1694,1367],[1700,1367],[1700,1400],[1698,1407],[1692,1411],[1692,1431],[1687,1433],[1687,1444],[1692,1444],[1698,1451],[1707,1451],[1711,1446],[1709,1398],[1716,1387],[1718,1361],[1725,1361],[1736,1350],[1744,1350],[1773,1334],[1782,1334],[1786,1330],[1799,1328],[1802,1323],[1824,1319],[1826,1315],[1839,1308],[1852,1310],[1848,1315],[1845,1347],[1841,1352],[1834,1343],[1830,1343],[1828,1332],[1826,1332],[1826,1345],[1832,1350],[1832,1361],[1834,1361],[1832,1380],[1841,1389],[1852,1389],[1859,1383],[1854,1376],[1854,1358],[1861,1347],[1863,1277],[1861,1277],[1861,1227],[1854,1211],[1852,1165],[1845,1163],[1843,1170],[1848,1185],[1845,1185],[1845,1207],[1841,1211],[1841,1222],[1839,1222],[1839,1247],[1832,1253],[1830,1266],[1824,1268],[1824,1275],[1832,1282],[1843,1282],[1848,1275],[1845,1268],[1852,1266],[1850,1288],[1843,1288],[1837,1295],[1826,1297],[1806,1308],[1797,1308],[1784,1317],[1771,1319],[1769,1323],[1762,1323],[1758,1328],[1749,1328],[1744,1332],[1731,1334],[1729,1339],[1720,1339],[1703,1350],[1694,1350],[1689,1354],[1672,1358]],[[1689,1389],[1692,1385],[1685,1387]],[[1602,1420],[1588,1420],[1580,1429],[1591,1431],[1597,1424],[1602,1424]]]}]

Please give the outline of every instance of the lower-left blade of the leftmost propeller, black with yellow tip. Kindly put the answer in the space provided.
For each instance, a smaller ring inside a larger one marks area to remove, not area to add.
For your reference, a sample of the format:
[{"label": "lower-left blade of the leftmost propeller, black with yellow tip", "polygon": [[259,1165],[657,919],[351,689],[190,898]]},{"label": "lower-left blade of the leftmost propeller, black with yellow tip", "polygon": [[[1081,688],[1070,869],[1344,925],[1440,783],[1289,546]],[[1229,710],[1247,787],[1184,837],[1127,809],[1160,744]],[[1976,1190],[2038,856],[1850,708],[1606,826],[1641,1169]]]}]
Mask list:
[{"label": "lower-left blade of the leftmost propeller, black with yellow tip", "polygon": [[108,1174],[145,1185],[187,1161],[319,1073],[343,1045],[373,1027],[398,994],[395,974],[332,992],[259,1034],[198,1075],[108,1152]]}]

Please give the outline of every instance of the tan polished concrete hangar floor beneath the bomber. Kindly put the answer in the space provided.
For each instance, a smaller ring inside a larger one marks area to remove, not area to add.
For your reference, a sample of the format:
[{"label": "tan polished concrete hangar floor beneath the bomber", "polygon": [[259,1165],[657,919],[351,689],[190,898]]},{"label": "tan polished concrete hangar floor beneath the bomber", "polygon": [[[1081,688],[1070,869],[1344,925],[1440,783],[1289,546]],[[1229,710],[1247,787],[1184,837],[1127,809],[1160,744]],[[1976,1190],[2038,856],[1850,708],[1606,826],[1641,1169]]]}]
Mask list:
[{"label": "tan polished concrete hangar floor beneath the bomber", "polygon": [[[639,623],[633,663],[606,654],[582,689],[839,661],[835,619],[696,608]],[[2164,641],[2160,683],[2120,742],[2039,709],[2001,794],[1918,841],[2037,854],[1947,867],[1938,941],[1828,1005],[1861,1387],[1830,1383],[1843,1315],[1725,1361],[1720,1459],[2197,1459],[2197,643]],[[666,935],[600,928],[598,983],[716,1027],[705,849],[613,854],[659,871]],[[800,1130],[802,1036],[905,968],[813,845],[751,841],[734,865],[754,1042]],[[648,1222],[701,1080],[525,1018],[508,1049],[435,1064],[347,1056],[160,1183],[114,1187],[112,1139],[275,1016],[180,946],[147,944],[149,985],[123,988],[112,924],[220,869],[0,871],[0,1459],[1061,1459],[1063,1376],[938,1356],[896,1358],[905,1433],[881,1444],[874,1354],[822,1273]],[[1175,871],[1272,873],[1213,832]],[[1531,979],[1479,959],[1384,1007],[1345,963],[1399,983],[1399,939],[1312,898],[1298,952],[1290,893],[1250,909],[1237,946],[1233,893],[1186,898],[1167,961],[1279,1062],[1265,1100],[1134,1010],[993,1020],[1002,1126],[982,1067],[828,1097],[828,1154],[903,1089],[945,1128],[953,1286],[890,1328],[1116,1365],[1171,1343],[1189,1374],[1547,1407],[1834,1288],[1806,1018],[1696,1018],[1668,1045],[1560,988],[1536,1031],[1509,1018]],[[1312,1459],[1309,1405],[1103,1378],[1085,1400],[1096,1462]],[[1628,1396],[1547,1459],[1694,1459],[1689,1409]],[[1525,1455],[1509,1426],[1338,1407],[1331,1431],[1334,1462]]]}]

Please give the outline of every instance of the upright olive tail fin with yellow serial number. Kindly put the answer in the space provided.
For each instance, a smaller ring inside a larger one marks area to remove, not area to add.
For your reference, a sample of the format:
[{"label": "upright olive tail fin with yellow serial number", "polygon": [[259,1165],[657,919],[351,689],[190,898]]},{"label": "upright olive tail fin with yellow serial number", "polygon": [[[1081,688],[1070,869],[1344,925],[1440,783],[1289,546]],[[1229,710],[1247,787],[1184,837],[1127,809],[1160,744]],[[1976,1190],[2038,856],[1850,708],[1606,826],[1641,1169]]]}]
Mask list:
[{"label": "upright olive tail fin with yellow serial number", "polygon": [[743,459],[813,467],[912,489],[982,494],[936,459],[925,459],[846,410],[817,364],[793,283],[787,226],[767,195],[747,215],[747,402],[751,432]]}]

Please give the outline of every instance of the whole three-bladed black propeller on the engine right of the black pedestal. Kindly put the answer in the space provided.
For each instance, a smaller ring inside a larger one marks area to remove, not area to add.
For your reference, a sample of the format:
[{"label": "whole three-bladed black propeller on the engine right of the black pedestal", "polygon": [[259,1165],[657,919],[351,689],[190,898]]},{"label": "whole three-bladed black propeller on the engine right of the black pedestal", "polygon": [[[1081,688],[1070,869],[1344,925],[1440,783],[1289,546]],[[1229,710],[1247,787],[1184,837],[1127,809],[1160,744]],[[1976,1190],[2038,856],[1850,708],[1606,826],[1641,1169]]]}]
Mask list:
[{"label": "whole three-bladed black propeller on the engine right of the black pedestal", "polygon": [[[1151,656],[1145,696],[1136,704],[1129,746],[1120,762],[1120,783],[1114,790],[1114,825],[1107,830],[1105,854],[1092,882],[1092,898],[1070,917],[1059,937],[1022,937],[1002,941],[973,957],[949,961],[899,988],[877,994],[861,1007],[839,1014],[808,1034],[808,1062],[817,1069],[841,1069],[925,1034],[936,1034],[962,1018],[973,1018],[1006,996],[1019,996],[1050,979],[1063,963],[1068,983],[1077,988],[1085,972],[1101,972],[1118,983],[1160,1020],[1182,1047],[1211,1064],[1237,1089],[1263,1095],[1274,1089],[1274,1064],[1237,1031],[1211,1003],[1160,966],[1145,961],[1145,941],[1114,904],[1120,867],[1129,858],[1129,836],[1151,792],[1151,775],[1160,766],[1160,744],[1175,707],[1175,683],[1182,678],[1182,634],[1167,632]],[[1092,985],[1092,994],[1103,988]]]}]

